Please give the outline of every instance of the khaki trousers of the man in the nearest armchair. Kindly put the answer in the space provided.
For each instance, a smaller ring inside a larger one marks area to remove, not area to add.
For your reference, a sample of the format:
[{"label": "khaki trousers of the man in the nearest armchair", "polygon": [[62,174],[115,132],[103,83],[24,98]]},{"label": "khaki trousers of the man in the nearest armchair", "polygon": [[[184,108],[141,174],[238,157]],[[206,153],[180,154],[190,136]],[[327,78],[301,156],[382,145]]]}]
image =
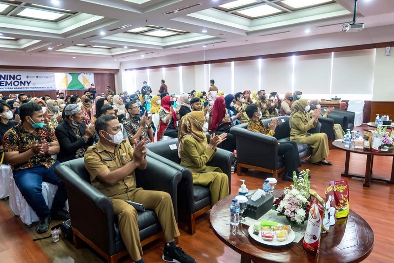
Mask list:
[{"label": "khaki trousers of the man in the nearest armchair", "polygon": [[122,240],[132,260],[139,259],[142,255],[142,247],[139,240],[137,211],[125,200],[141,203],[145,209],[155,211],[166,242],[180,235],[176,225],[171,196],[168,193],[136,188],[130,192],[110,197],[110,199],[114,206],[114,214],[118,217]]}]

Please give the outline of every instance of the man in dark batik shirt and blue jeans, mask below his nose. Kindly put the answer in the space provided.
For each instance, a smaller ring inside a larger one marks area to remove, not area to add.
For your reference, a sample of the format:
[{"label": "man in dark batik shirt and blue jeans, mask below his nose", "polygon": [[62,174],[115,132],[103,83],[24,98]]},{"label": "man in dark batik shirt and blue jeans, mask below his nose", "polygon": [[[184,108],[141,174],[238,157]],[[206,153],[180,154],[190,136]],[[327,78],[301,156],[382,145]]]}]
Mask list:
[{"label": "man in dark batik shirt and blue jeans, mask below his nose", "polygon": [[[37,232],[44,233],[51,218],[69,219],[63,210],[66,186],[54,173],[59,161],[51,157],[59,153],[60,147],[54,130],[44,125],[41,106],[25,103],[19,113],[21,122],[3,136],[4,157],[12,166],[16,186],[40,219]],[[42,182],[58,186],[51,210],[42,196]]]}]

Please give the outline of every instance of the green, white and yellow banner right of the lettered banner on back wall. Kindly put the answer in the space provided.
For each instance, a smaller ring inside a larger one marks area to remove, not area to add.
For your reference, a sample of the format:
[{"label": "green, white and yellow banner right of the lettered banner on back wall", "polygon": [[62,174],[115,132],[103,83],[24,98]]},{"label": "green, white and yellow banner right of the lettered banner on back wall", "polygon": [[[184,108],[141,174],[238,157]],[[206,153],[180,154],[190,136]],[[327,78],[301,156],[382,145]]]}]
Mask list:
[{"label": "green, white and yellow banner right of the lettered banner on back wall", "polygon": [[58,90],[88,89],[91,83],[95,83],[93,73],[55,73],[55,78]]}]

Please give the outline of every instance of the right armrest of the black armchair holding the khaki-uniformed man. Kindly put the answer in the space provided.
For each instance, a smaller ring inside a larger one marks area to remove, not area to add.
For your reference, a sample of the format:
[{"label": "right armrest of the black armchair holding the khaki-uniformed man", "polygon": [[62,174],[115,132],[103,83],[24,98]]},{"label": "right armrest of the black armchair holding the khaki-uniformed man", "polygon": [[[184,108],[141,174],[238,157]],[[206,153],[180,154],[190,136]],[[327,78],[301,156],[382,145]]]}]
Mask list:
[{"label": "right armrest of the black armchair holding the khaki-uniformed man", "polygon": [[169,193],[174,207],[175,219],[178,220],[178,184],[182,179],[182,172],[153,157],[146,156],[146,158],[148,161],[146,169],[135,170],[137,187]]}]

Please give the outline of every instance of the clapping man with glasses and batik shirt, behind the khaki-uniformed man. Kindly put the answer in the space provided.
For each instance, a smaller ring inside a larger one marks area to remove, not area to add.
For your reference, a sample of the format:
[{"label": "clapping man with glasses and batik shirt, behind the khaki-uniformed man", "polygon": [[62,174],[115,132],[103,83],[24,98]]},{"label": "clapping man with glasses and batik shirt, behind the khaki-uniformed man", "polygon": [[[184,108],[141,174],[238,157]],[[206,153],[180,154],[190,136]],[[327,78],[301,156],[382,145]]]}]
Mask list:
[{"label": "clapping man with glasses and batik shirt, behind the khaki-uniformed man", "polygon": [[134,139],[137,139],[139,143],[142,138],[144,138],[145,143],[151,143],[153,139],[152,116],[149,118],[147,116],[141,117],[139,106],[135,101],[126,103],[126,110],[130,116],[123,122],[123,126],[129,136],[130,143],[133,143]]}]

